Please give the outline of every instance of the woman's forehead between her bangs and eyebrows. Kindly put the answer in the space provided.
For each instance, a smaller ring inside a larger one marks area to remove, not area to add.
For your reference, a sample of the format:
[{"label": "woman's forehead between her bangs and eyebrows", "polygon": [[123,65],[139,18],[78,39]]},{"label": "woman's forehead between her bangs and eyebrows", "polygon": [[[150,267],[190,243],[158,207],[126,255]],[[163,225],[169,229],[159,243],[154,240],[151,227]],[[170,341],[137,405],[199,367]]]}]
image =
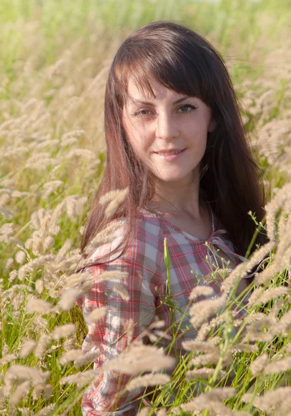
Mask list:
[{"label": "woman's forehead between her bangs and eyebrows", "polygon": [[138,81],[129,79],[127,84],[129,101],[158,101],[177,99],[185,94],[175,92],[173,89],[162,85],[155,79],[148,81],[148,85],[139,84]]}]

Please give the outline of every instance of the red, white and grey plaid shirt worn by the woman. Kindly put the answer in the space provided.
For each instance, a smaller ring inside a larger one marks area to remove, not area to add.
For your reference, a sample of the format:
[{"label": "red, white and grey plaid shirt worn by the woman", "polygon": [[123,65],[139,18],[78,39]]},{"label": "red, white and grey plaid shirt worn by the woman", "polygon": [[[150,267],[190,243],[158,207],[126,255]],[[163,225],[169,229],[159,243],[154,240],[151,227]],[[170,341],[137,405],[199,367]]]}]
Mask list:
[{"label": "red, white and grey plaid shirt worn by the woman", "polygon": [[[126,220],[124,220],[124,225]],[[125,227],[116,232],[116,239],[111,244],[102,245],[91,255],[92,262],[100,255],[113,250],[121,241]],[[166,266],[164,263],[164,238],[168,240],[170,254],[170,293],[175,304],[175,322],[179,326],[176,347],[182,350],[182,341],[195,338],[196,331],[189,322],[189,295],[196,285],[209,284],[216,294],[220,293],[222,278],[207,281],[211,273],[211,264],[227,254],[233,263],[245,260],[233,252],[233,245],[227,238],[226,230],[222,229],[212,214],[211,236],[205,241],[182,231],[164,218],[141,209],[141,218],[136,225],[136,238],[125,255],[103,265],[89,266],[93,279],[106,270],[128,272],[123,283],[130,294],[126,302],[113,290],[116,281],[96,282],[89,293],[78,301],[82,311],[87,315],[100,306],[107,306],[107,314],[94,324],[87,324],[88,333],[82,344],[83,352],[98,349],[100,354],[94,361],[98,369],[106,361],[116,358],[127,346],[126,328],[130,320],[134,322],[133,339],[153,322],[155,316],[166,322],[170,328],[170,309],[164,299],[166,297]],[[206,257],[208,256],[208,257]],[[114,255],[116,258],[116,255]],[[220,261],[224,262],[223,259]],[[164,340],[164,347],[166,347]],[[167,341],[169,344],[170,341]],[[98,376],[94,385],[82,399],[82,413],[86,416],[99,415],[136,415],[139,409],[139,397],[143,389],[126,392],[118,401],[116,394],[125,388],[131,376],[116,372],[105,372]],[[117,406],[116,406],[117,403]],[[114,407],[115,406],[115,407]],[[115,409],[118,410],[115,410]]]}]

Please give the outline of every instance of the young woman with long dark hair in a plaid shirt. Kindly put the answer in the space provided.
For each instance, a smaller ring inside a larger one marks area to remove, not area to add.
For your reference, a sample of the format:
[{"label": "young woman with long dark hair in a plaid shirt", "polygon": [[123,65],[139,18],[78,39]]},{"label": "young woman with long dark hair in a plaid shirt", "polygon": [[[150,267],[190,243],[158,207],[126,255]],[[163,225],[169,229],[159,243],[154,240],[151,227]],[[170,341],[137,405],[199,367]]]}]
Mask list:
[{"label": "young woman with long dark hair in a plaid shirt", "polygon": [[[128,189],[110,221],[119,221],[116,239],[91,254],[94,286],[83,296],[85,318],[107,307],[105,317],[88,325],[85,352],[98,349],[95,368],[127,346],[155,316],[171,324],[166,296],[164,239],[170,253],[170,293],[175,321],[181,323],[176,351],[195,338],[187,313],[198,284],[220,293],[219,279],[206,281],[212,265],[234,268],[245,259],[256,225],[264,216],[260,168],[247,143],[236,94],[221,56],[189,28],[158,21],[132,33],[118,49],[105,92],[107,163],[91,210],[82,250],[109,221],[98,201],[108,191]],[[258,234],[252,245],[265,242]],[[129,300],[107,270],[127,272]],[[240,281],[238,295],[246,288]],[[118,292],[118,291],[117,291]],[[173,316],[172,316],[173,320]],[[129,376],[105,372],[82,401],[83,415],[136,415],[136,391],[113,407]]]}]

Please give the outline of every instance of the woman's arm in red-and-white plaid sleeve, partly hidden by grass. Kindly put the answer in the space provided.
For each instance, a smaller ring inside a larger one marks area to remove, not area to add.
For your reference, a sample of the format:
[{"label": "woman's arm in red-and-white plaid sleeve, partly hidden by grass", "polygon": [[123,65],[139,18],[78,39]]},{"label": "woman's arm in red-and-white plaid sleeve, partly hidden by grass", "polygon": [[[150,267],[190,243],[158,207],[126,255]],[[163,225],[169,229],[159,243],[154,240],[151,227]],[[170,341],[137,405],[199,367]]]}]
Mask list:
[{"label": "woman's arm in red-and-white plaid sleeve, partly hidden by grass", "polygon": [[[88,333],[82,345],[84,352],[98,350],[94,368],[98,370],[107,361],[117,358],[127,347],[127,327],[134,324],[132,339],[135,339],[148,327],[155,315],[155,297],[148,272],[141,269],[135,261],[125,262],[117,259],[109,265],[91,266],[89,268],[94,279],[94,285],[82,299],[82,311],[87,322]],[[100,275],[105,271],[127,272],[123,282],[129,299],[116,293],[116,280],[100,281]],[[88,271],[88,269],[87,269]],[[88,315],[96,308],[106,306],[106,315],[97,323],[88,323]],[[131,337],[131,336],[130,336]],[[129,374],[104,372],[100,374],[82,399],[82,413],[86,416],[105,415],[136,415],[143,389],[127,392],[119,397],[130,379]],[[116,410],[120,409],[120,410]],[[116,411],[115,411],[116,410]]]}]

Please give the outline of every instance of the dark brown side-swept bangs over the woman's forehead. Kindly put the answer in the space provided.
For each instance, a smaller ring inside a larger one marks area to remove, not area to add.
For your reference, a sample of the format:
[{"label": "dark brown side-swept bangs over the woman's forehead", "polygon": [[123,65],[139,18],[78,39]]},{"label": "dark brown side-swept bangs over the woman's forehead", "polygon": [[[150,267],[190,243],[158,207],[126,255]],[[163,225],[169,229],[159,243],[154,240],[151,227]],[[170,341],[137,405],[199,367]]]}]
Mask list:
[{"label": "dark brown side-swept bangs over the woman's forehead", "polygon": [[[155,98],[152,81],[179,94],[200,98],[212,107],[214,102],[209,66],[197,57],[197,52],[185,53],[184,48],[171,42],[139,40],[139,44],[128,44],[118,57],[115,71],[115,91],[121,106],[130,100],[127,94],[131,80],[144,95]],[[193,44],[189,45],[193,49]],[[197,57],[195,59],[195,56]]]}]

